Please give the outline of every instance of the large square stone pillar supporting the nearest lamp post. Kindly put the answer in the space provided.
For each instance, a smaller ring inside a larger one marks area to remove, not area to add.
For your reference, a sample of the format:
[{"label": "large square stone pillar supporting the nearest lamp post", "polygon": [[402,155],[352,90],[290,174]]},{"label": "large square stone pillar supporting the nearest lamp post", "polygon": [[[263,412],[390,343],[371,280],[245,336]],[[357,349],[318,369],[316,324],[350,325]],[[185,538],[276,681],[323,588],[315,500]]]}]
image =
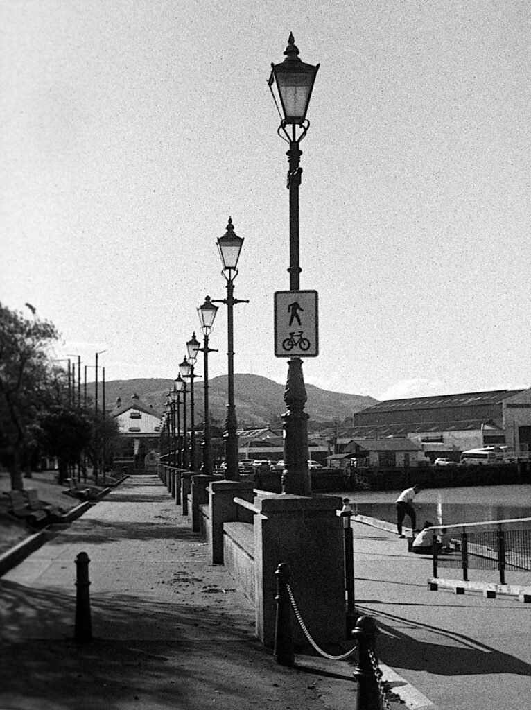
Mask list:
[{"label": "large square stone pillar supporting the nearest lamp post", "polygon": [[[346,642],[341,498],[281,494],[261,498],[254,517],[256,633],[275,641],[275,570],[290,565],[290,585],[312,638],[321,646]],[[292,616],[293,640],[308,641]]]}]

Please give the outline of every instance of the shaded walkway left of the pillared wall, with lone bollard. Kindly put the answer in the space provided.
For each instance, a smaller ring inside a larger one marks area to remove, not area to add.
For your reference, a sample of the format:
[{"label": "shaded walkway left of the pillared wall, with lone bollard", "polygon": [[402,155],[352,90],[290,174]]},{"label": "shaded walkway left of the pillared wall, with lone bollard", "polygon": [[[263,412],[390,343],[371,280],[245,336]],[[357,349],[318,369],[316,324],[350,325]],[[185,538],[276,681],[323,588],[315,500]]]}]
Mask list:
[{"label": "shaded walkway left of the pillared wall, with lone bollard", "polygon": [[[73,639],[75,557],[94,639]],[[0,579],[0,708],[351,710],[352,668],[276,664],[254,612],[156,477],[131,477]],[[392,706],[398,706],[393,701]]]}]

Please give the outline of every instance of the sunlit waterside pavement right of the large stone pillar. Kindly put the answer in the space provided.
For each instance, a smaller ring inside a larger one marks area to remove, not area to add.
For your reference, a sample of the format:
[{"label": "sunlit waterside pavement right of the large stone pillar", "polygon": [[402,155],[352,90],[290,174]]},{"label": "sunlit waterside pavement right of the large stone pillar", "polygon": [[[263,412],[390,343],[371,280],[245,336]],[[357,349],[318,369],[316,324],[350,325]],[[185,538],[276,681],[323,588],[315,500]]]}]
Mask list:
[{"label": "sunlit waterside pavement right of the large stone pillar", "polygon": [[393,532],[354,523],[354,550],[357,608],[378,622],[381,661],[438,710],[531,707],[530,604],[428,591],[431,557]]}]

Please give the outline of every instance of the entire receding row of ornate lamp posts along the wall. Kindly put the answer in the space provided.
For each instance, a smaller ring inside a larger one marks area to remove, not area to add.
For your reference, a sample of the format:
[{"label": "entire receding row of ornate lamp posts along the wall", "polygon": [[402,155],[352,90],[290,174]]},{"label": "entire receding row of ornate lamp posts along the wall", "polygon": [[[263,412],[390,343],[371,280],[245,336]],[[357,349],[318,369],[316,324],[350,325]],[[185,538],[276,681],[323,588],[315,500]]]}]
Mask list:
[{"label": "entire receding row of ornate lamp posts along the wall", "polygon": [[[310,121],[306,118],[307,110],[312,96],[312,89],[319,70],[319,65],[310,65],[302,62],[299,58],[299,50],[295,46],[295,39],[292,33],[288,38],[288,47],[284,52],[285,60],[278,64],[272,64],[272,70],[268,85],[275,105],[280,114],[280,126],[278,135],[289,145],[288,155],[288,190],[290,191],[290,291],[300,290],[300,252],[299,252],[299,187],[301,182],[302,168],[300,168],[300,141],[305,138],[310,127]],[[279,106],[280,104],[280,106]],[[191,394],[191,451],[190,459],[187,459],[187,449],[185,447],[185,459],[182,464],[187,464],[191,469],[196,467],[195,459],[195,422],[193,415],[194,395],[193,364],[197,352],[204,355],[204,436],[203,436],[203,465],[202,473],[212,473],[212,461],[210,452],[210,425],[209,425],[209,380],[208,380],[208,355],[213,350],[209,347],[209,335],[212,332],[212,325],[218,307],[215,303],[224,303],[227,306],[227,327],[228,327],[228,404],[226,413],[225,439],[225,461],[226,479],[237,480],[239,478],[238,466],[238,437],[236,408],[234,405],[234,305],[241,301],[234,298],[234,279],[238,274],[237,264],[243,245],[243,239],[234,232],[232,219],[226,233],[217,240],[221,263],[223,264],[222,274],[226,279],[226,298],[223,300],[211,300],[206,297],[202,306],[197,309],[201,330],[203,334],[203,346],[201,347],[192,337],[193,346],[190,351],[188,346],[188,361],[180,366],[180,376],[190,378]],[[192,357],[193,353],[193,357]],[[185,365],[183,368],[182,366]],[[177,378],[178,381],[179,378]],[[177,383],[176,381],[176,383]],[[182,388],[182,393],[186,397],[186,386]],[[302,360],[300,357],[292,357],[288,364],[288,381],[285,387],[284,401],[286,413],[284,420],[284,462],[283,491],[285,493],[295,493],[307,496],[310,494],[310,474],[308,471],[308,415],[304,411],[307,394],[305,390],[304,377],[302,374]],[[185,407],[186,411],[186,407]],[[185,415],[186,416],[186,415]],[[186,422],[184,423],[184,433],[186,437]],[[179,432],[180,433],[180,432]]]}]

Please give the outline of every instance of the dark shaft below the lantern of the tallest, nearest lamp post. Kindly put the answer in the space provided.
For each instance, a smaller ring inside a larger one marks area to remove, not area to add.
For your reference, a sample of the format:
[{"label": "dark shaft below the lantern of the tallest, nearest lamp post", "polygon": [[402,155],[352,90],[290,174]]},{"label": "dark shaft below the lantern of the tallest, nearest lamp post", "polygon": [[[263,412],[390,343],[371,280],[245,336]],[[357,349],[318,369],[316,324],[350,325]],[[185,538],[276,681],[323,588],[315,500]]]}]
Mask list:
[{"label": "dark shaft below the lantern of the tallest, nearest lamp post", "polygon": [[[300,289],[299,264],[299,186],[302,169],[298,141],[290,141],[288,189],[290,190],[290,290]],[[287,412],[284,420],[283,493],[308,496],[311,493],[308,471],[308,415],[304,407],[307,400],[302,360],[291,358],[288,363],[288,381],[284,392]]]}]

